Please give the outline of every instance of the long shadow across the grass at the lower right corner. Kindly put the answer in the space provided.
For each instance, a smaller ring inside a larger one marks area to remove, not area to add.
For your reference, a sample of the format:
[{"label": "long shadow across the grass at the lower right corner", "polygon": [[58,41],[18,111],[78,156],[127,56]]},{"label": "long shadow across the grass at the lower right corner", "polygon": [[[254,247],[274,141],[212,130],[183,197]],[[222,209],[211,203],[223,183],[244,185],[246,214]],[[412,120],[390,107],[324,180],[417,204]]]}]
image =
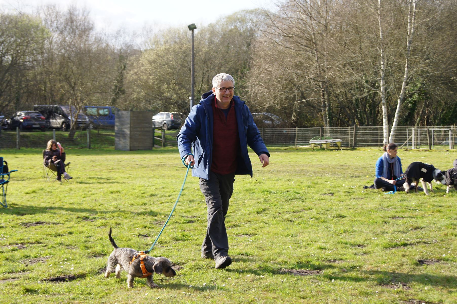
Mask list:
[{"label": "long shadow across the grass at the lower right corner", "polygon": [[353,282],[362,282],[362,281],[372,281],[373,278],[378,284],[390,284],[390,283],[411,283],[416,282],[425,285],[446,287],[446,288],[456,288],[457,287],[457,277],[456,276],[439,276],[433,274],[411,274],[403,272],[388,272],[388,271],[355,271],[349,270],[345,272],[344,275],[339,275],[337,273],[324,274],[324,277],[328,277],[329,280],[341,280],[341,281],[353,281]]}]

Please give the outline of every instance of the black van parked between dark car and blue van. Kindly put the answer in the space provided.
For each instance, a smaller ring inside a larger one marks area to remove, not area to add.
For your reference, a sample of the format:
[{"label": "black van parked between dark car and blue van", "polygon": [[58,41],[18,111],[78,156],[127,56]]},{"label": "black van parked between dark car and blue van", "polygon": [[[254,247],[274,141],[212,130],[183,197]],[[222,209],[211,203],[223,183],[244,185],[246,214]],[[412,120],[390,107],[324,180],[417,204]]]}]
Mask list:
[{"label": "black van parked between dark car and blue van", "polygon": [[82,113],[77,112],[74,106],[68,105],[35,105],[35,111],[38,111],[46,117],[48,128],[62,129],[68,131],[71,122],[76,119],[76,123],[80,128],[87,128],[89,126],[89,118]]}]

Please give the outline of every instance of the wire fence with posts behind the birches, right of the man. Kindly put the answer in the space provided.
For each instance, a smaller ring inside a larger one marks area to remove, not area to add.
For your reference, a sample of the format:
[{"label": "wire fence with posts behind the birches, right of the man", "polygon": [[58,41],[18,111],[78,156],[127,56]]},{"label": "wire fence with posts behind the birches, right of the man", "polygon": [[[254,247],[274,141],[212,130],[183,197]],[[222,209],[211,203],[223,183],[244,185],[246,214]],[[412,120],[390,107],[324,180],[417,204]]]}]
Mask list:
[{"label": "wire fence with posts behind the birches, right of the man", "polygon": [[[346,148],[383,146],[383,127],[261,128],[260,133],[267,146],[309,146],[309,140],[319,136],[341,139]],[[457,130],[455,126],[401,126],[394,142],[409,149],[454,149]]]}]

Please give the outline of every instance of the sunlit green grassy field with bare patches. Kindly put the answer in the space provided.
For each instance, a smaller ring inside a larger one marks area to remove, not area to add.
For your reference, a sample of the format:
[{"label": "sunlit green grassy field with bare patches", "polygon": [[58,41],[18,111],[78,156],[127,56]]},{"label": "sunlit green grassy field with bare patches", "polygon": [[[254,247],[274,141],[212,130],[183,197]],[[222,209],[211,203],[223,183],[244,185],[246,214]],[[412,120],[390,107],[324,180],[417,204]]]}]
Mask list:
[{"label": "sunlit green grassy field with bare patches", "polygon": [[[226,225],[234,263],[200,257],[206,205],[189,176],[151,252],[177,275],[160,288],[103,276],[117,245],[147,250],[167,219],[186,168],[177,149],[67,148],[73,180],[42,180],[41,149],[1,150],[10,169],[0,207],[0,303],[404,303],[457,302],[457,192],[364,190],[381,149],[273,148],[254,178],[236,176]],[[400,150],[445,170],[455,151]],[[63,282],[60,282],[63,281]]]}]

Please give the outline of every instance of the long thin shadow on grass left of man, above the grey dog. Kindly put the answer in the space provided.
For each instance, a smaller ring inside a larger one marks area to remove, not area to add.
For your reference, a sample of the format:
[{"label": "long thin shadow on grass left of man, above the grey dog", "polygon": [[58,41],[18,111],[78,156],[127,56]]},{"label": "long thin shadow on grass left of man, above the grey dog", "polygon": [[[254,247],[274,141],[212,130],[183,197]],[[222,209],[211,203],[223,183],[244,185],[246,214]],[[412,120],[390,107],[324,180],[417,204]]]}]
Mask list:
[{"label": "long thin shadow on grass left of man, above the grey dog", "polygon": [[39,213],[54,213],[56,211],[67,211],[71,213],[97,213],[97,214],[110,214],[110,213],[118,213],[118,212],[124,212],[124,213],[132,213],[135,215],[142,214],[142,215],[149,215],[149,216],[158,216],[158,215],[165,215],[159,212],[155,211],[142,211],[141,213],[136,212],[135,210],[133,211],[127,211],[127,210],[120,210],[120,209],[115,209],[115,210],[97,210],[97,209],[90,209],[90,208],[78,208],[78,207],[49,207],[49,206],[43,206],[43,207],[37,207],[37,206],[30,206],[30,205],[21,205],[17,203],[8,203],[8,208],[0,208],[0,214],[8,214],[8,215],[30,215],[30,214],[39,214]]}]

